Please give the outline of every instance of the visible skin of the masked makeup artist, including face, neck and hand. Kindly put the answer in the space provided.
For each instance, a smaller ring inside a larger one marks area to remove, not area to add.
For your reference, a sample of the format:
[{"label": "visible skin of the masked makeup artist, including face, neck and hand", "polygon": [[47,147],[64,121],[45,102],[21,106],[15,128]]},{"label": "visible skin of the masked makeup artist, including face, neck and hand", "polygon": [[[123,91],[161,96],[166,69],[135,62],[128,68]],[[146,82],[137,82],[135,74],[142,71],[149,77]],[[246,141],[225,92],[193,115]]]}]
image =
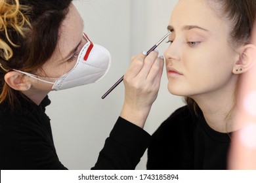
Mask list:
[{"label": "visible skin of the masked makeup artist, including face, neck and hand", "polygon": [[[79,53],[86,42],[87,40],[83,39],[83,20],[71,3],[70,10],[60,26],[60,38],[56,50],[35,75],[58,78],[68,73],[74,67],[77,56],[72,61],[68,59],[72,58],[72,55],[78,55],[75,53]],[[75,48],[77,51],[72,52]],[[163,58],[158,58],[157,52],[152,52],[147,57],[139,54],[132,59],[124,78],[127,90],[121,117],[139,127],[144,126],[160,87],[162,71]],[[54,82],[49,78],[41,79]],[[52,91],[53,87],[53,84],[41,82],[16,71],[7,73],[5,81],[11,88],[24,93],[37,105]]]}]

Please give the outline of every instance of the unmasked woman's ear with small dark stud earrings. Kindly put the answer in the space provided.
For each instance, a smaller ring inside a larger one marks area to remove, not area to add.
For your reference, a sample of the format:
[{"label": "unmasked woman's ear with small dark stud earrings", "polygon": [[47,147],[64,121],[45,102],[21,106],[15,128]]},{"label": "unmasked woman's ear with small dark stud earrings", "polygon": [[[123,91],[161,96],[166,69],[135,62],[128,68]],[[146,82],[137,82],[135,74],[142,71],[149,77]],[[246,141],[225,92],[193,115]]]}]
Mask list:
[{"label": "unmasked woman's ear with small dark stud earrings", "polygon": [[232,73],[238,75],[245,73],[254,65],[256,61],[256,46],[254,44],[246,44],[242,48],[240,58],[234,64]]}]

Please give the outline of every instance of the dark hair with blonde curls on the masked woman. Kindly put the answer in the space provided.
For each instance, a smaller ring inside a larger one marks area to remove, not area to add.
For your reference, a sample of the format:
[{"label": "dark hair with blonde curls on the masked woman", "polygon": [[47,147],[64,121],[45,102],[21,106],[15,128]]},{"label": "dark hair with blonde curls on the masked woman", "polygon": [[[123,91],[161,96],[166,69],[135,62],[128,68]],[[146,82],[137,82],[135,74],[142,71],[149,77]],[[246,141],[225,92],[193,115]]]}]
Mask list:
[{"label": "dark hair with blonde curls on the masked woman", "polygon": [[0,103],[7,101],[13,108],[18,101],[18,91],[5,82],[7,72],[33,73],[51,58],[71,2],[0,0]]}]

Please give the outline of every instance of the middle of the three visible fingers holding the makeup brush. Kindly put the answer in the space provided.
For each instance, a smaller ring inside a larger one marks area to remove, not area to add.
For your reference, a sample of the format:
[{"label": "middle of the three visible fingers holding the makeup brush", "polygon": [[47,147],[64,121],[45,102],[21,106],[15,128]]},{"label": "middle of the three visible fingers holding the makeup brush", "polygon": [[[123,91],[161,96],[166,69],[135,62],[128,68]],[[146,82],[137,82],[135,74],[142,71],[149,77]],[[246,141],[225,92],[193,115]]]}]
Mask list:
[{"label": "middle of the three visible fingers holding the makeup brush", "polygon": [[158,58],[158,52],[157,51],[150,52],[150,54],[148,54],[148,56],[144,59],[143,67],[137,76],[139,76],[140,78],[146,79],[156,58]]}]

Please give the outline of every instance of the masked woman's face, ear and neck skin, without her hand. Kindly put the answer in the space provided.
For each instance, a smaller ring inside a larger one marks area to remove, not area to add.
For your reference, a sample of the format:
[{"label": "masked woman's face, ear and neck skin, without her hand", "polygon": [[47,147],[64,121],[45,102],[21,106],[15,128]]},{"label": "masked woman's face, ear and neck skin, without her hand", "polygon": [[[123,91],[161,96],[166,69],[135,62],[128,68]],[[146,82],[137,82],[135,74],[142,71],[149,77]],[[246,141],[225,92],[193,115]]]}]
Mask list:
[{"label": "masked woman's face, ear and neck skin, without her hand", "polygon": [[[83,39],[83,20],[77,9],[71,4],[70,10],[60,26],[60,38],[53,56],[46,61],[35,75],[58,78],[68,73],[75,65],[77,59],[75,53],[79,53],[86,42],[87,40]],[[74,52],[75,48],[77,50]],[[74,59],[71,60],[72,56],[74,56]],[[47,80],[43,77],[42,79]],[[24,93],[37,105],[52,91],[51,88],[53,87],[53,84],[41,82],[16,71],[7,73],[5,81],[14,90]]]}]

